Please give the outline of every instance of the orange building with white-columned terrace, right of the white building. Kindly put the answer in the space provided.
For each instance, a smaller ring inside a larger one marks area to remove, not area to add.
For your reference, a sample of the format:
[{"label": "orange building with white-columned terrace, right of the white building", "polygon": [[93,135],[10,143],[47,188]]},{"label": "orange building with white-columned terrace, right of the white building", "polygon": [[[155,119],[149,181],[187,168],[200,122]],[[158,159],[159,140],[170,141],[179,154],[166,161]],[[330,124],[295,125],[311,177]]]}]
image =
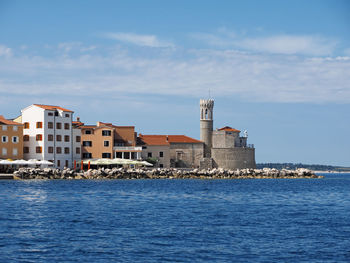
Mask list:
[{"label": "orange building with white-columned terrace, right of the white building", "polygon": [[80,119],[76,125],[81,130],[83,159],[141,159],[142,147],[136,146],[134,126],[116,126],[104,122],[85,125]]}]

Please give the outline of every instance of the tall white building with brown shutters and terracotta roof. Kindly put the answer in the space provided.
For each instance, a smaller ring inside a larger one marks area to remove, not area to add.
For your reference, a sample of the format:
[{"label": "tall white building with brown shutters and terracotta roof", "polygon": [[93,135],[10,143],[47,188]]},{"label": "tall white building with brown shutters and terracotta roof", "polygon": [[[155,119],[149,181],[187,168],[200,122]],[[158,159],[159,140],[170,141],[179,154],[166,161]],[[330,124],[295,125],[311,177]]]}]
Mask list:
[{"label": "tall white building with brown shutters and terracotta roof", "polygon": [[60,169],[80,162],[81,135],[72,127],[73,111],[33,104],[21,112],[24,159],[48,160]]}]

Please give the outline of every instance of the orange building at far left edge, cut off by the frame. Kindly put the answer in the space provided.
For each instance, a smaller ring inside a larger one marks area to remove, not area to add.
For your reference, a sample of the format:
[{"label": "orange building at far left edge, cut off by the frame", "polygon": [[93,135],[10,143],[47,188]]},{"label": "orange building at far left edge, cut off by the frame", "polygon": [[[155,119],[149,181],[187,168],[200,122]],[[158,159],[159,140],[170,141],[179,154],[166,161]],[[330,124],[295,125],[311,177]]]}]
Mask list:
[{"label": "orange building at far left edge, cut off by the frame", "polygon": [[23,159],[23,125],[0,115],[0,159]]}]

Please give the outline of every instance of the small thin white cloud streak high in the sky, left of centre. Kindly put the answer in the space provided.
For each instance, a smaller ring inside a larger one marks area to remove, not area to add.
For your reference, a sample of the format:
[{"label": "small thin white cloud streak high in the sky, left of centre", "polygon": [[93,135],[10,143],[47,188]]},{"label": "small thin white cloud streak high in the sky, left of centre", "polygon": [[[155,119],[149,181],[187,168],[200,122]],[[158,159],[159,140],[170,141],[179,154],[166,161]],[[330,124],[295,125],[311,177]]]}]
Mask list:
[{"label": "small thin white cloud streak high in the sky, left of centre", "polygon": [[145,47],[174,47],[174,44],[159,40],[154,35],[139,35],[133,33],[106,33],[104,37]]}]

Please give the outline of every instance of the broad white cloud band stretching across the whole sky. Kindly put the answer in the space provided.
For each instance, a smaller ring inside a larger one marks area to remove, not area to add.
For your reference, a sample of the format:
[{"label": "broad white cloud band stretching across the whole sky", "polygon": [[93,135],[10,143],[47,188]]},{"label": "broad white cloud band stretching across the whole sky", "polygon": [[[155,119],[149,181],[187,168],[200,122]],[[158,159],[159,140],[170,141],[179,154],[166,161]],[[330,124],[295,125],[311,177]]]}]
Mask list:
[{"label": "broad white cloud band stretching across the whole sky", "polygon": [[216,97],[246,101],[350,103],[348,57],[303,58],[235,50],[127,50],[0,60],[0,92],[10,96],[108,98],[131,94]]}]

